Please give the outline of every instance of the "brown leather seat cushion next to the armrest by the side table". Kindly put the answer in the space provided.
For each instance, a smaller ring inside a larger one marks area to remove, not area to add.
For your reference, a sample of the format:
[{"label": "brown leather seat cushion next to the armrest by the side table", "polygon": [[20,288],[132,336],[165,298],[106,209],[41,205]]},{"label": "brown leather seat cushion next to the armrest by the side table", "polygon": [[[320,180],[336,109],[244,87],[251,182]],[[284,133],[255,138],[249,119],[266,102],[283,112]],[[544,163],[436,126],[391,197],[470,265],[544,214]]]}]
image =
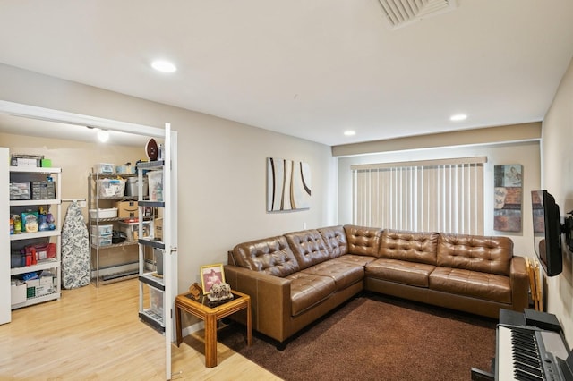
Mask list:
[{"label": "brown leather seat cushion next to the armrest by the side table", "polygon": [[299,272],[286,276],[286,279],[291,281],[290,300],[292,316],[310,309],[312,306],[327,299],[330,294],[336,292],[334,279],[329,276]]}]

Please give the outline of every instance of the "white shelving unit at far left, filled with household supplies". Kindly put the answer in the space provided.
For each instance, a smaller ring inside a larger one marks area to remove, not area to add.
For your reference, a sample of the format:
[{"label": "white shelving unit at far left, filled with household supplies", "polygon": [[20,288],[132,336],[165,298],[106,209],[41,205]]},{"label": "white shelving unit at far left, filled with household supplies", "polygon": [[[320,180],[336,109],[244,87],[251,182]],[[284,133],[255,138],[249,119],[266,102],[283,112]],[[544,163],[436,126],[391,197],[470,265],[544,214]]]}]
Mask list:
[{"label": "white shelving unit at far left, filled with household supplies", "polygon": [[20,278],[21,275],[28,273],[41,273],[43,270],[50,270],[55,276],[51,290],[47,294],[36,296],[28,295],[26,301],[13,303],[12,309],[31,306],[44,301],[53,301],[61,296],[62,284],[62,169],[61,168],[42,168],[42,167],[20,167],[10,166],[10,182],[32,182],[46,180],[46,177],[55,177],[56,199],[26,199],[10,200],[10,215],[20,214],[26,209],[38,210],[38,207],[47,207],[55,216],[55,230],[38,231],[36,233],[19,233],[10,235],[10,250],[19,250],[27,244],[36,244],[38,242],[53,242],[56,244],[56,258],[47,258],[38,260],[31,266],[13,267],[10,269],[11,278]]}]

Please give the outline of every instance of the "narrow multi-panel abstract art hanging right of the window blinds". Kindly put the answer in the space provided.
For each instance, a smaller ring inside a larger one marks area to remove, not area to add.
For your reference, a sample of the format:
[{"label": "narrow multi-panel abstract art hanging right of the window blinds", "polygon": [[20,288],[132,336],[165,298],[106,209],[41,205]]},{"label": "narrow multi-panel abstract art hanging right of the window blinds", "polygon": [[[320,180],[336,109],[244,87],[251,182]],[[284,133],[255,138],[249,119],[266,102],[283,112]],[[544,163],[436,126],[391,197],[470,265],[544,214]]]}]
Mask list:
[{"label": "narrow multi-panel abstract art hanging right of the window blinds", "polygon": [[495,165],[493,176],[493,230],[521,232],[522,166]]}]

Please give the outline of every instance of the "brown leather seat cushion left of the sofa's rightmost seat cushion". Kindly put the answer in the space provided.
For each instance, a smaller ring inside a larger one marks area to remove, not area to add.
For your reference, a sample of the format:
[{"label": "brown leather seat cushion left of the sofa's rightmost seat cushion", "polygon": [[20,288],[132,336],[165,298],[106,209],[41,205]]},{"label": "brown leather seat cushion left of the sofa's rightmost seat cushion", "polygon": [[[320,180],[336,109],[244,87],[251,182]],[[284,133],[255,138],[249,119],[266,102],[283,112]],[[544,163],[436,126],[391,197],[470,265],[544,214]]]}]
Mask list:
[{"label": "brown leather seat cushion left of the sofa's rightmost seat cushion", "polygon": [[435,266],[399,259],[380,258],[366,265],[366,276],[417,287],[429,286]]}]

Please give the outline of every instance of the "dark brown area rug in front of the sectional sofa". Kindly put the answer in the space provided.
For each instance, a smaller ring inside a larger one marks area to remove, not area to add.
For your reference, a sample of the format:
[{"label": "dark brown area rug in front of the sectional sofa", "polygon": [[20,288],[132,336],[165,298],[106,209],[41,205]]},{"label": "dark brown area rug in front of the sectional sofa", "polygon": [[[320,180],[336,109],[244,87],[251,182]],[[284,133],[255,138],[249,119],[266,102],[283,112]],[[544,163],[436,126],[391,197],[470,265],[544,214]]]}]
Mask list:
[{"label": "dark brown area rug in front of the sectional sofa", "polygon": [[284,351],[231,324],[218,341],[285,380],[469,380],[490,370],[497,320],[361,295],[295,336]]}]

